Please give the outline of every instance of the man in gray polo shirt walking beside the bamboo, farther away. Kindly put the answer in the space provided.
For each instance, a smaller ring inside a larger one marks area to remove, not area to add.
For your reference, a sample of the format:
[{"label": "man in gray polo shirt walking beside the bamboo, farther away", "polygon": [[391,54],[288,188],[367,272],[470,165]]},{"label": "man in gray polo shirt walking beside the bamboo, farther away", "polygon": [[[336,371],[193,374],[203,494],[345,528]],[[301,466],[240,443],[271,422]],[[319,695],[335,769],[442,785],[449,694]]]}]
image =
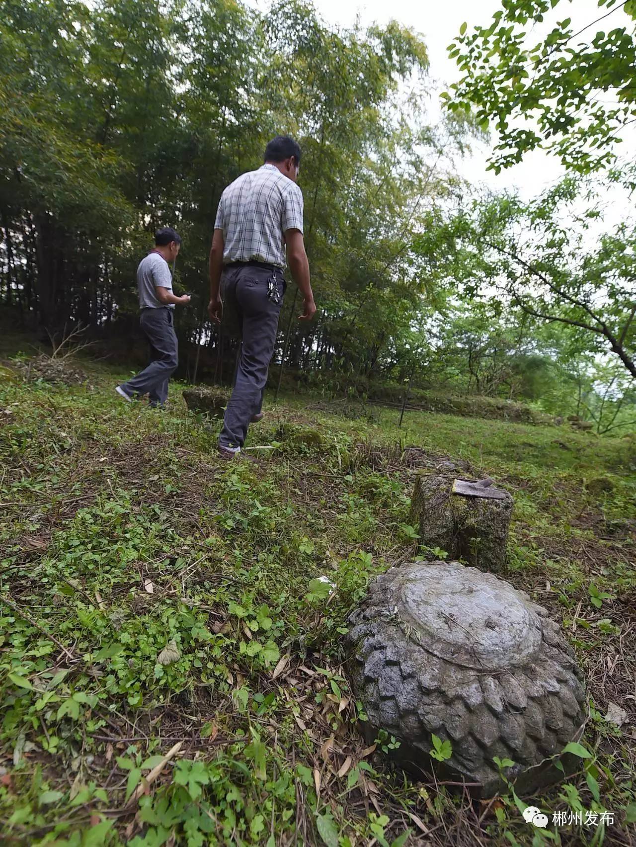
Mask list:
[{"label": "man in gray polo shirt walking beside the bamboo, farther away", "polygon": [[116,387],[119,396],[128,402],[147,394],[152,407],[163,407],[168,398],[168,380],[179,364],[174,304],[190,302],[189,295],[175,297],[172,292],[170,263],[174,263],[180,246],[181,236],[172,227],[157,230],[154,249],[137,268],[140,323],[150,343],[150,364],[141,374]]}]

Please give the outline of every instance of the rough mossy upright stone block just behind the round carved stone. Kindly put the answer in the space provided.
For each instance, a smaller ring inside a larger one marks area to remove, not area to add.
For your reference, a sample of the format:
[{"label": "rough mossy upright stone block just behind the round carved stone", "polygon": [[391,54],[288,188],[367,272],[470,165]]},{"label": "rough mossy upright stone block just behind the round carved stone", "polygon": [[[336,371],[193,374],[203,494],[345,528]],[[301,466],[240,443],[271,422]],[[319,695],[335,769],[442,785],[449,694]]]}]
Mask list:
[{"label": "rough mossy upright stone block just behind the round carved stone", "polygon": [[412,495],[411,523],[419,527],[427,547],[440,547],[453,559],[463,559],[493,573],[506,567],[506,543],[512,517],[512,496],[502,499],[453,493],[447,474],[420,473]]}]

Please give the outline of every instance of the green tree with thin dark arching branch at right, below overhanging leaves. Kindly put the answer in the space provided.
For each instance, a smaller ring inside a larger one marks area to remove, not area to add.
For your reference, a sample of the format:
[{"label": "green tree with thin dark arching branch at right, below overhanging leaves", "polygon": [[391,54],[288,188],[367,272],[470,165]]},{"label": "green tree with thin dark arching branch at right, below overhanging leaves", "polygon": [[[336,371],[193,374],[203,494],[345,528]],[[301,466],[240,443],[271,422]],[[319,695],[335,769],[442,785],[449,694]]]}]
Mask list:
[{"label": "green tree with thin dark arching branch at right, below overhanging leaves", "polygon": [[605,183],[568,177],[529,203],[505,195],[434,213],[419,250],[429,274],[452,280],[464,296],[498,313],[513,308],[539,325],[559,324],[572,355],[610,354],[633,379],[636,228],[626,221],[600,229],[604,190]]}]

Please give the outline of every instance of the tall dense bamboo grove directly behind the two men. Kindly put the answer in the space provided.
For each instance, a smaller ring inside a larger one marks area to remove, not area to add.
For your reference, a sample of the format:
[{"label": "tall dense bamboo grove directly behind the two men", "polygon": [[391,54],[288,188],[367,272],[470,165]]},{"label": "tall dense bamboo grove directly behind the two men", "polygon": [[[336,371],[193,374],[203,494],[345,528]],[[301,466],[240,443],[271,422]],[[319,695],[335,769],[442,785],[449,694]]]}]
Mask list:
[{"label": "tall dense bamboo grove directly behind the two men", "polygon": [[395,22],[333,30],[301,2],[267,14],[230,0],[2,8],[4,302],[49,329],[129,338],[135,265],[152,230],[174,225],[176,282],[195,293],[178,332],[185,350],[209,342],[212,375],[234,355],[205,313],[218,197],[283,132],[303,148],[320,315],[297,327],[288,296],[278,355],[290,325],[292,367],[366,374],[390,357],[431,293],[412,235],[431,198],[453,190],[464,133],[454,119],[428,124],[418,37]]}]

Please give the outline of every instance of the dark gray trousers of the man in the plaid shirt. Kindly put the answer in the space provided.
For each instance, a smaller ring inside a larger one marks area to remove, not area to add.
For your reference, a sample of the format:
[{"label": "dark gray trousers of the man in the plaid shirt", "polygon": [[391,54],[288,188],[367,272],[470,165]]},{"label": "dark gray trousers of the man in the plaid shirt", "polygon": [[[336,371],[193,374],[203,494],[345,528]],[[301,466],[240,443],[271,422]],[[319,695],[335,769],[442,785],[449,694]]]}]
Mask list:
[{"label": "dark gray trousers of the man in the plaid shirt", "polygon": [[221,279],[224,331],[241,338],[234,389],[218,436],[218,443],[223,447],[243,446],[250,419],[263,405],[286,287],[282,270],[277,270],[278,302],[275,302],[268,296],[271,278],[271,270],[246,265],[225,268]]}]

